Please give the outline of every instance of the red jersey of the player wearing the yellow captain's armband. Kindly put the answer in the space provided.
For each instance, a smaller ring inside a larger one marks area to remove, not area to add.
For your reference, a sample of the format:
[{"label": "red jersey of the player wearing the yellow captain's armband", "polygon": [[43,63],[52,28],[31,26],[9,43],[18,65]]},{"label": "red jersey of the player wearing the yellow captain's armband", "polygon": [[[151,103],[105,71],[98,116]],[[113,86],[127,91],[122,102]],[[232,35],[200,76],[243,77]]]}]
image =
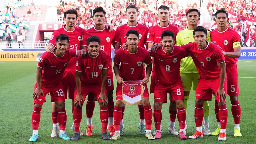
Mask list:
[{"label": "red jersey of the player wearing the yellow captain's armband", "polygon": [[[210,33],[210,35],[211,35],[212,43],[219,45],[221,49],[223,49],[223,51],[234,52],[233,43],[235,42],[239,42],[237,46],[240,46],[240,36],[236,31],[234,31],[231,28],[227,27],[227,29],[223,32],[220,32],[217,28],[213,30]],[[234,64],[237,62],[236,57],[225,56],[225,58],[226,58],[227,65]]]}]

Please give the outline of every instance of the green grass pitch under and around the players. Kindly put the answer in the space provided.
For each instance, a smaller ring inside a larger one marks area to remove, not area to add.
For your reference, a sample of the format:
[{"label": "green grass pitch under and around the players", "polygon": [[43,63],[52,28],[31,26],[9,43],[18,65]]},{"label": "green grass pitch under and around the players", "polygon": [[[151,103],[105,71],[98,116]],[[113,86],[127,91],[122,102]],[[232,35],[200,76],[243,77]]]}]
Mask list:
[{"label": "green grass pitch under and around the players", "polygon": [[[231,113],[231,103],[227,97],[228,106],[228,125],[227,140],[222,143],[256,143],[254,137],[256,129],[255,116],[255,80],[256,80],[256,60],[240,60],[238,65],[240,94],[239,102],[241,104],[241,133],[242,137],[234,137],[234,120]],[[31,114],[33,110],[32,94],[36,82],[37,62],[0,62],[0,143],[30,143],[29,137],[32,135]],[[114,77],[115,80],[115,77]],[[116,80],[115,80],[116,86]],[[148,84],[149,87],[149,84]],[[114,94],[115,96],[115,91]],[[114,102],[116,102],[114,97]],[[150,94],[150,102],[153,102],[153,95]],[[71,100],[66,100],[67,127],[66,132],[69,137],[73,136],[71,125],[73,124],[71,112]],[[209,125],[211,132],[217,127],[214,115],[214,102],[210,101],[210,119]],[[105,141],[101,139],[101,124],[99,117],[99,105],[95,104],[93,114],[93,135],[91,137],[81,136],[78,141],[64,141],[58,138],[51,138],[52,117],[50,95],[47,95],[46,103],[41,112],[41,121],[39,125],[39,140],[36,143],[217,143],[217,136],[204,136],[196,140],[180,140],[178,136],[173,136],[168,132],[169,112],[168,105],[164,104],[162,109],[164,128],[160,140],[147,140],[144,135],[139,134],[139,112],[136,105],[127,106],[124,114],[124,136],[120,140]],[[196,131],[194,121],[195,91],[191,91],[189,99],[189,108],[187,114],[187,136]],[[176,120],[176,128],[179,130],[179,123]],[[86,114],[85,106],[83,108],[83,118],[81,122],[81,131],[85,134]],[[152,132],[155,129],[152,123]]]}]

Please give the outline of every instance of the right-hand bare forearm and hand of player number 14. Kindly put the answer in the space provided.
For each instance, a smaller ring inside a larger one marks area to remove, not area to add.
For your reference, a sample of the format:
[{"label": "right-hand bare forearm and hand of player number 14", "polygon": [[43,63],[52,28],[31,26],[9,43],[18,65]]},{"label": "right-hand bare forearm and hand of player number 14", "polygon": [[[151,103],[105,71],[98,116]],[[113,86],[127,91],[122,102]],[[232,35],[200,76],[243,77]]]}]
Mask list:
[{"label": "right-hand bare forearm and hand of player number 14", "polygon": [[108,104],[108,97],[105,94],[106,84],[108,79],[108,69],[102,70],[102,82],[101,82],[101,90],[98,101],[102,99],[102,104],[104,105],[104,101]]}]

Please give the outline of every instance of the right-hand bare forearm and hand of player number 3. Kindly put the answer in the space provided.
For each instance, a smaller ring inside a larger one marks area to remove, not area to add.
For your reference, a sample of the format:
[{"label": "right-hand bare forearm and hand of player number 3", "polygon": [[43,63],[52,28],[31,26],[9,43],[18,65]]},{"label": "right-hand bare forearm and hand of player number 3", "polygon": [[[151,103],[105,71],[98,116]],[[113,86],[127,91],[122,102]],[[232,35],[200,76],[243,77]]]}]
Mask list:
[{"label": "right-hand bare forearm and hand of player number 3", "polygon": [[223,100],[226,100],[226,95],[224,91],[224,81],[226,78],[226,63],[224,61],[221,64],[218,63],[218,65],[220,67],[220,87],[216,92],[216,96],[217,94],[219,94],[219,102],[223,102]]}]

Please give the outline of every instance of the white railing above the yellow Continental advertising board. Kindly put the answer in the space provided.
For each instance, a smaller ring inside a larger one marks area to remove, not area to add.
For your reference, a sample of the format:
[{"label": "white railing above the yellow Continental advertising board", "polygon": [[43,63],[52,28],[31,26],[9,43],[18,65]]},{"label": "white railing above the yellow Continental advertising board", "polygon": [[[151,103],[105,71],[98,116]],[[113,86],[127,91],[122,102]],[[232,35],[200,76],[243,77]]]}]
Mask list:
[{"label": "white railing above the yellow Continental advertising board", "polygon": [[0,49],[44,49],[48,42],[0,42]]}]

